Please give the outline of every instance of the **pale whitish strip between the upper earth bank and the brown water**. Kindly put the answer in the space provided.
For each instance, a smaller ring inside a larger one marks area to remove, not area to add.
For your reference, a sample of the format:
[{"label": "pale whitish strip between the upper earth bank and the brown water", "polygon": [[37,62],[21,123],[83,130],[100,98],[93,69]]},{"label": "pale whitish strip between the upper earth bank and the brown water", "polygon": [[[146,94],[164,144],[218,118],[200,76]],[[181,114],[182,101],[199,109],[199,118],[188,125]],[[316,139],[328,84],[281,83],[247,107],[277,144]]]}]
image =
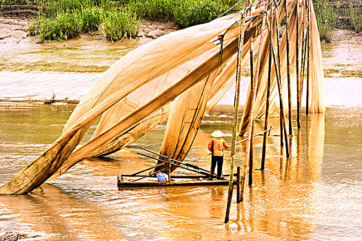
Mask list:
[{"label": "pale whitish strip between the upper earth bank and the brown water", "polygon": [[[45,101],[54,92],[58,100],[79,100],[102,72],[140,44],[137,41],[99,43],[89,39],[41,45],[0,44],[0,99]],[[322,46],[326,105],[362,105],[360,45],[341,42]],[[242,78],[241,103],[245,103],[248,83],[249,78]],[[292,87],[292,91],[295,90],[296,87]],[[302,105],[305,105],[304,94]],[[349,98],[345,98],[346,95]],[[232,105],[233,96],[234,88],[231,88],[219,104]],[[294,98],[292,101],[296,103]]]}]

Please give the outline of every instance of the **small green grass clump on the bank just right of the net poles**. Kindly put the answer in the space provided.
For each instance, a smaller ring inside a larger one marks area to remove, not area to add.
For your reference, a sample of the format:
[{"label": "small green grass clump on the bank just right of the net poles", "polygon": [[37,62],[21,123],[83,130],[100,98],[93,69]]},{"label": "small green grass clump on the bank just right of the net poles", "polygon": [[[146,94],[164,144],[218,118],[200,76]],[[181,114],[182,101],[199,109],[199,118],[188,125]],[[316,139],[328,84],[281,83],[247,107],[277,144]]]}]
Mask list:
[{"label": "small green grass clump on the bank just right of the net poles", "polygon": [[336,10],[327,0],[315,0],[313,4],[321,41],[332,41],[337,22]]}]

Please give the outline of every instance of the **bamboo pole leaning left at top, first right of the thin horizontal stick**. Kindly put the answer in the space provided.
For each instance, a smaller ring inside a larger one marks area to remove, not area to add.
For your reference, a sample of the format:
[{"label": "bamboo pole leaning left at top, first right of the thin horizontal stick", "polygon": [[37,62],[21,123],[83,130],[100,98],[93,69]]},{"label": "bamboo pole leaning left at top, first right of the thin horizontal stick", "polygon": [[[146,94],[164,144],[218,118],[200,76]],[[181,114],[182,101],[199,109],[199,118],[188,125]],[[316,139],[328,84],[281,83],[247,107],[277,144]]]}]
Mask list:
[{"label": "bamboo pole leaning left at top, first right of the thin horizontal stick", "polygon": [[[280,54],[280,39],[279,39],[279,20],[278,20],[278,8],[275,8],[275,26],[276,26],[276,48],[278,54],[278,71],[279,71],[279,83],[278,83],[278,90],[279,90],[279,107],[280,107],[280,123],[281,123],[281,142],[285,142],[285,154],[289,157],[289,145],[288,145],[288,134],[287,134],[287,127],[285,124],[285,115],[284,115],[284,108],[283,108],[283,96],[282,96],[282,86],[281,86],[281,54]],[[274,48],[273,48],[274,50]],[[278,80],[277,80],[278,82]],[[282,143],[281,143],[282,144]],[[282,146],[282,145],[281,145]]]}]

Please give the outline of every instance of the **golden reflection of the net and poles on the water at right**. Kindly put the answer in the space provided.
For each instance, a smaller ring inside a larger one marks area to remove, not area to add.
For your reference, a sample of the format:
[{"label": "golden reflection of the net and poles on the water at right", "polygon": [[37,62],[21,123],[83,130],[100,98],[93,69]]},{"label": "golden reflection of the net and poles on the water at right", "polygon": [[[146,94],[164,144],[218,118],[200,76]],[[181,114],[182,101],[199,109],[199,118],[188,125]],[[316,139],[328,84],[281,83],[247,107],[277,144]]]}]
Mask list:
[{"label": "golden reflection of the net and poles on the water at right", "polygon": [[[314,182],[319,181],[323,160],[324,114],[310,114],[301,129],[294,129],[292,157],[268,148],[265,171],[253,171],[254,185],[245,189],[243,203],[237,205],[237,231],[266,233],[289,240],[308,240],[314,231]],[[274,118],[273,124],[279,124]],[[273,130],[279,132],[279,125]],[[256,132],[258,132],[257,130]],[[257,146],[262,138],[255,138]],[[280,141],[268,138],[268,147]],[[279,144],[279,143],[278,143]],[[257,151],[254,151],[257,153]],[[255,160],[260,159],[254,154]],[[226,226],[230,231],[230,224]]]}]

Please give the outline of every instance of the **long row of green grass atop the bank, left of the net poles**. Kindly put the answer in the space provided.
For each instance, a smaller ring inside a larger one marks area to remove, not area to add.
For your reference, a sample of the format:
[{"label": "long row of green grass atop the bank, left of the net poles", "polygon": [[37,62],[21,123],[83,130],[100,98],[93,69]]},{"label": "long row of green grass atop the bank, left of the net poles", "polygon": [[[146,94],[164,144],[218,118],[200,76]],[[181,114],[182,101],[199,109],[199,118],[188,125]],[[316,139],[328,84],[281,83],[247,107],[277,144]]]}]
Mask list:
[{"label": "long row of green grass atop the bank, left of the net poles", "polygon": [[[10,0],[1,0],[10,1]],[[13,0],[14,1],[14,0]],[[187,28],[219,17],[238,0],[41,0],[30,35],[61,40],[99,30],[111,41],[135,37],[143,18],[166,19]]]}]

